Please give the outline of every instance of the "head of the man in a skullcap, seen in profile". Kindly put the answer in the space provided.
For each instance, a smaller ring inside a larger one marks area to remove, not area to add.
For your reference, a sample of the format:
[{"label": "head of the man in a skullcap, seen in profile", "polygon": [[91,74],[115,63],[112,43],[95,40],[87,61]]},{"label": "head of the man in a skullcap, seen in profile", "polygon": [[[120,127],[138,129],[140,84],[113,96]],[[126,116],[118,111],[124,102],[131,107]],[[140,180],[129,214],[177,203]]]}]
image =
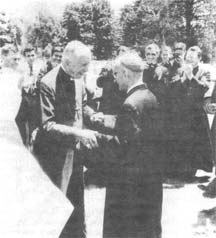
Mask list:
[{"label": "head of the man in a skullcap, seen in profile", "polygon": [[116,59],[114,74],[121,91],[142,81],[143,61],[136,53],[126,53]]}]

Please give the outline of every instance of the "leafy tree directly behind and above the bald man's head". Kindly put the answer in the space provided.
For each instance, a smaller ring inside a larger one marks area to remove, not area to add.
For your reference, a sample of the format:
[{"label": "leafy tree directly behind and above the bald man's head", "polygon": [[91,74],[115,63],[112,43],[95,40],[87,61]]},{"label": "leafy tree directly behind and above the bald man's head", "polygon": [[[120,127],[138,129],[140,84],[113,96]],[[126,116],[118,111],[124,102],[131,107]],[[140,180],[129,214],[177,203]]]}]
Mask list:
[{"label": "leafy tree directly behind and above the bald man's head", "polygon": [[112,54],[112,19],[109,1],[85,0],[65,8],[62,25],[69,40],[92,45],[95,56],[104,59]]}]

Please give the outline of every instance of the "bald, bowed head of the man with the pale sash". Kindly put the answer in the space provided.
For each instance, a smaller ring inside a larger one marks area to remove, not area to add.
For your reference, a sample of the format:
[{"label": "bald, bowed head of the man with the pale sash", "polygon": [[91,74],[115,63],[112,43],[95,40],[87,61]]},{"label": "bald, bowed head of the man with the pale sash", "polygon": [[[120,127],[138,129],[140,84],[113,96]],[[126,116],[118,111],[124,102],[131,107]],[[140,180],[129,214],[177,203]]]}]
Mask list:
[{"label": "bald, bowed head of the man with the pale sash", "polygon": [[81,78],[87,72],[91,61],[91,51],[80,41],[69,42],[62,55],[62,65],[67,74]]}]

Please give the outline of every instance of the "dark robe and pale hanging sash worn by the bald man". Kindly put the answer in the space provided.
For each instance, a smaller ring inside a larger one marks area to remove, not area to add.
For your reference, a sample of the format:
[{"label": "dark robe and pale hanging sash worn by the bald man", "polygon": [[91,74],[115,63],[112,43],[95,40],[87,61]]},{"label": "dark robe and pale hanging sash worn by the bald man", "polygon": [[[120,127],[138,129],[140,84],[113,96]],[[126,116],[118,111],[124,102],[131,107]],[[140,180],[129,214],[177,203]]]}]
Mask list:
[{"label": "dark robe and pale hanging sash worn by the bald man", "polygon": [[83,164],[70,127],[82,128],[83,117],[90,118],[93,110],[86,105],[84,84],[79,83],[82,81],[71,80],[57,67],[42,78],[39,86],[40,131],[34,153],[53,183],[74,205],[61,234],[64,238],[85,237]]}]

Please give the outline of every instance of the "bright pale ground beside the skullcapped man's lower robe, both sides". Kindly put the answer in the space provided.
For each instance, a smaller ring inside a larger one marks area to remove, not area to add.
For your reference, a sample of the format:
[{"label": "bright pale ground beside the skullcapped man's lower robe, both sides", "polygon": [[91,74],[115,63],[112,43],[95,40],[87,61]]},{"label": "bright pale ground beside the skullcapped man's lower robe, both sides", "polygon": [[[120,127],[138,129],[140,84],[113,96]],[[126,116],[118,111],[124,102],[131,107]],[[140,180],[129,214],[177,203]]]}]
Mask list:
[{"label": "bright pale ground beside the skullcapped man's lower robe, both sides", "polygon": [[[102,238],[105,188],[85,190],[88,238]],[[164,184],[163,238],[215,238],[216,199],[194,184]]]}]

